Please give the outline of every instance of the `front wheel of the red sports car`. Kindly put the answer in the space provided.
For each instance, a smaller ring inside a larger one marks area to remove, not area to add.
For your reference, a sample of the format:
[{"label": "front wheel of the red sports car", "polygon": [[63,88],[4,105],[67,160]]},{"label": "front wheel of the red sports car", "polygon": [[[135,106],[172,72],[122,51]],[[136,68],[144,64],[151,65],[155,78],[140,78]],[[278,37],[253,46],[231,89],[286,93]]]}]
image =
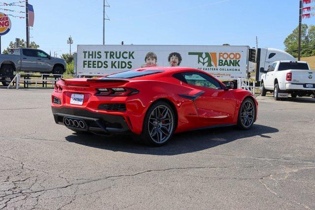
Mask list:
[{"label": "front wheel of the red sports car", "polygon": [[242,130],[250,129],[256,119],[256,106],[251,98],[246,98],[238,113],[237,126]]}]

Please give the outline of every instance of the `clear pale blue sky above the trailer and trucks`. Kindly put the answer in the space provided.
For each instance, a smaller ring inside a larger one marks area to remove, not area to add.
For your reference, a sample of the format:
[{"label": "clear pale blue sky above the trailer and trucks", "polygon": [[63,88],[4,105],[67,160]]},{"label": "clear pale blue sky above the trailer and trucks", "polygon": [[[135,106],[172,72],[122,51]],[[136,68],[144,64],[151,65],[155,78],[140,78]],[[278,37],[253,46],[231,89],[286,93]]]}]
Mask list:
[{"label": "clear pale blue sky above the trailer and trucks", "polygon": [[[110,21],[105,23],[105,44],[229,43],[255,47],[258,36],[258,47],[284,49],[285,37],[298,25],[299,0],[107,1]],[[47,53],[69,52],[66,43],[69,35],[74,40],[72,52],[77,44],[102,44],[103,0],[29,0],[29,3],[35,11],[30,40]],[[11,22],[10,32],[1,39],[2,50],[16,37],[26,38],[25,19],[11,18]],[[315,18],[304,19],[303,23],[315,24]]]}]

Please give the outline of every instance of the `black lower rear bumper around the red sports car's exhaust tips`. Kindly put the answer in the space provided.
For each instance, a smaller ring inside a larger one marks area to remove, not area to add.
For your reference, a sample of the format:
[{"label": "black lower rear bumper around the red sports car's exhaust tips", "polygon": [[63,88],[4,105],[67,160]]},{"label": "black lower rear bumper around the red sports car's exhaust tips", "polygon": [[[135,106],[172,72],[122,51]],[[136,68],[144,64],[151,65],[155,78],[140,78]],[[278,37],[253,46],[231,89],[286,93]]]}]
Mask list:
[{"label": "black lower rear bumper around the red sports car's exhaust tips", "polygon": [[[90,112],[85,109],[67,108],[67,107],[52,107],[55,122],[66,126],[69,129],[78,131],[91,131],[96,134],[114,134],[114,133],[129,133],[130,129],[123,116],[99,114]],[[85,126],[69,126],[64,123],[64,120],[82,120]]]}]

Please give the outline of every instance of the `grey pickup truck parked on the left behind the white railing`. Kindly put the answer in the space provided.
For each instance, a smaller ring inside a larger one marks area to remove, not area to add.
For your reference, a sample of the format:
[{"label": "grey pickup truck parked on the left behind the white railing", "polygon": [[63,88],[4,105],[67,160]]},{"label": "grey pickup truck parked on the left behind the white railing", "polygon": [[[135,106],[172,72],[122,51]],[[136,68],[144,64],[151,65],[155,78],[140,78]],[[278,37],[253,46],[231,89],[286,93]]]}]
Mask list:
[{"label": "grey pickup truck parked on the left behind the white railing", "polygon": [[14,71],[63,74],[65,68],[65,60],[51,57],[38,49],[13,48],[9,55],[0,54],[0,77],[5,76],[4,86],[9,85]]}]

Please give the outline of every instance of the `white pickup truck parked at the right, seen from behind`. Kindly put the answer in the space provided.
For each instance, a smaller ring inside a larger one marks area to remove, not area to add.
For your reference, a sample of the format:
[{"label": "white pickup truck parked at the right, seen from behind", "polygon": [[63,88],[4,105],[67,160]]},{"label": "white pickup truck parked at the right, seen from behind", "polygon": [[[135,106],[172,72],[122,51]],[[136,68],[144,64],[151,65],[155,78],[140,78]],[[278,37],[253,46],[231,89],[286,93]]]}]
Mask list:
[{"label": "white pickup truck parked at the right, seen from behind", "polygon": [[311,70],[305,61],[280,60],[270,64],[267,71],[261,75],[261,95],[267,91],[274,93],[274,98],[296,96],[315,97],[315,71]]}]

